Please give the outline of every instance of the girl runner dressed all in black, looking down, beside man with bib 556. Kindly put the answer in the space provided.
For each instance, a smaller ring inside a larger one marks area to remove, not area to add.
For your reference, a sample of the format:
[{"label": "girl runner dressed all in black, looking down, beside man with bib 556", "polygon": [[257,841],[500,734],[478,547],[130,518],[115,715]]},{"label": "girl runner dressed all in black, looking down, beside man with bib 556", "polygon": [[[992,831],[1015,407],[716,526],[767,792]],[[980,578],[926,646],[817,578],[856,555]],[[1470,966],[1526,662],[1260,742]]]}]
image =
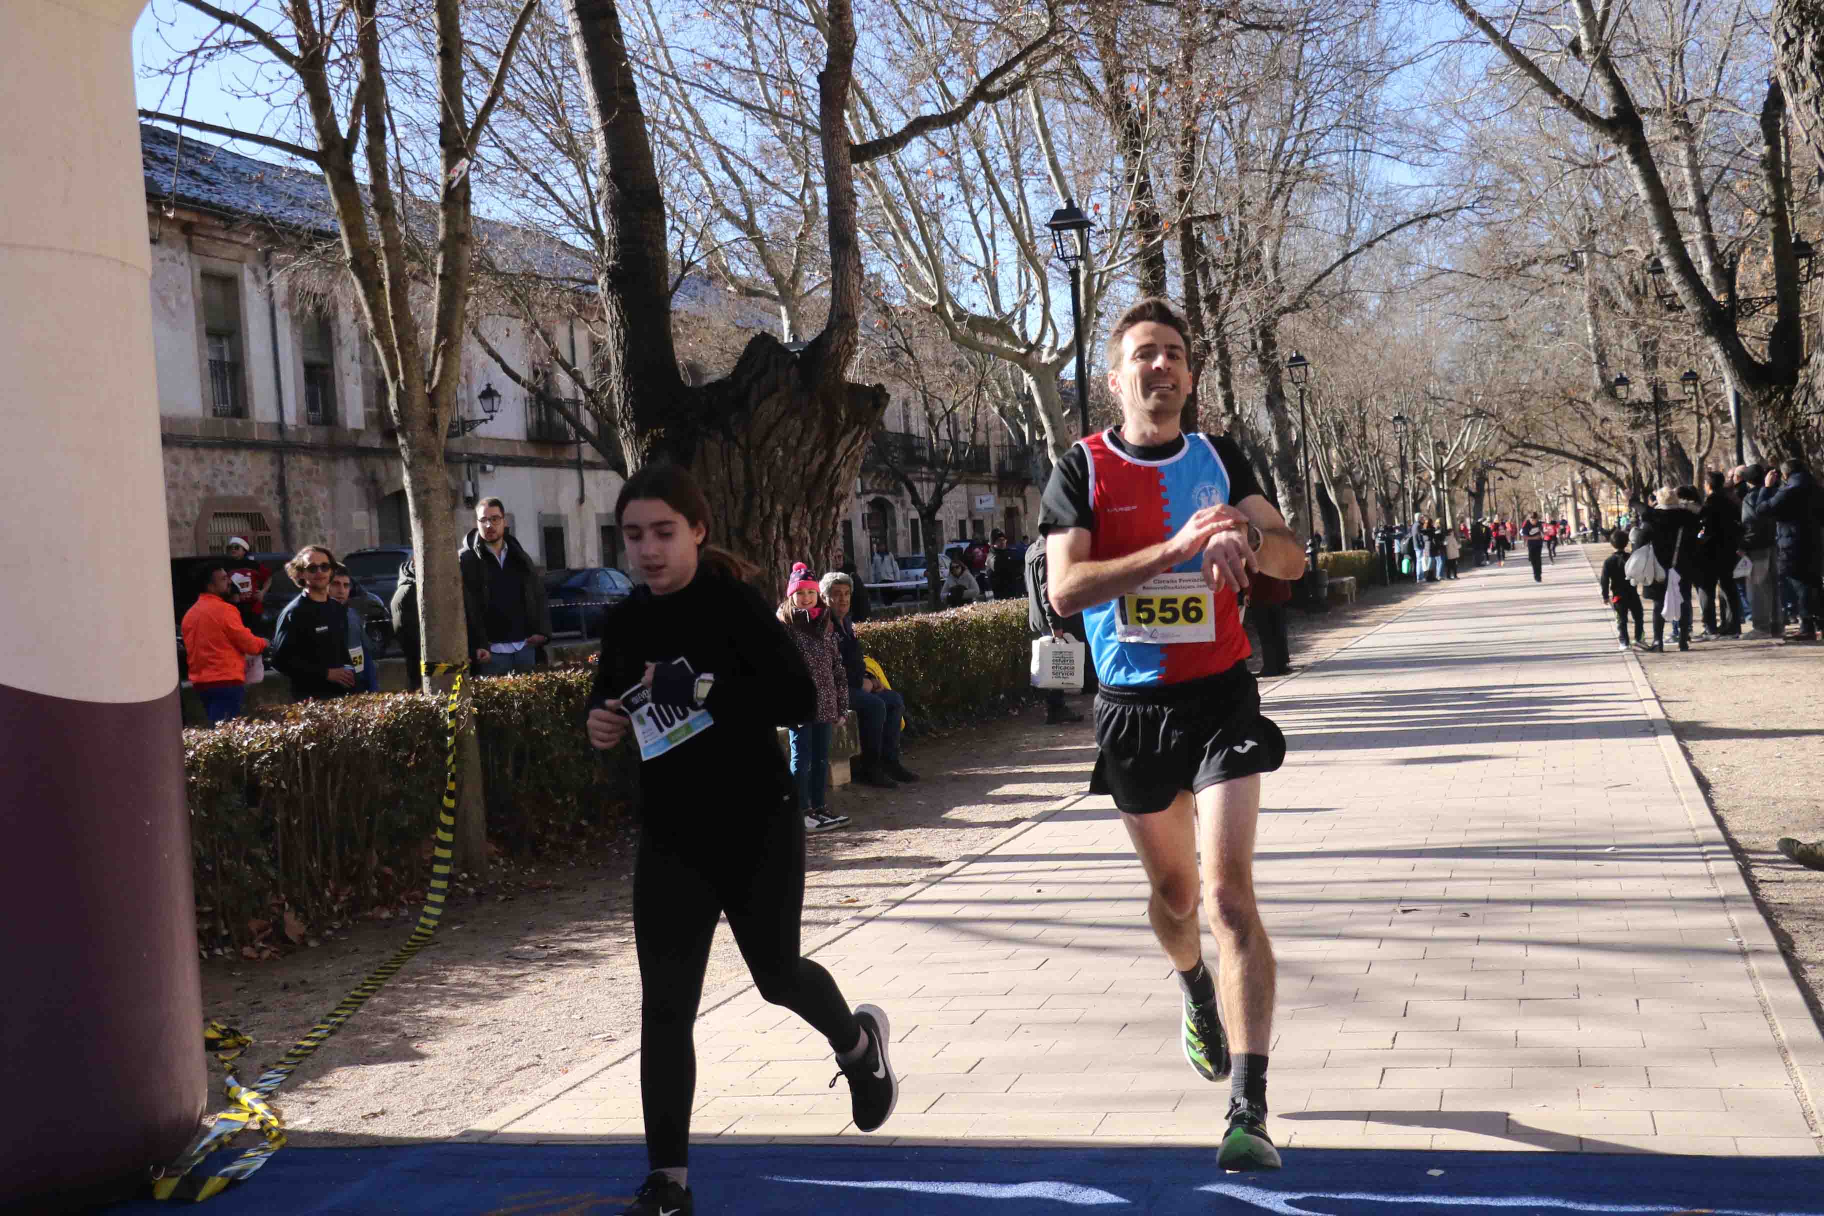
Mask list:
[{"label": "girl runner dressed all in black, looking down, beside man with bib 556", "polygon": [[775,738],[817,711],[797,645],[742,582],[753,567],[704,545],[710,503],[688,472],[642,469],[615,518],[644,585],[609,611],[587,729],[595,747],[633,733],[640,749],[633,939],[651,1167],[622,1216],[693,1216],[691,1026],[719,915],[761,995],[830,1041],[859,1130],[886,1121],[899,1083],[886,1014],[850,1012],[830,974],[799,953],[804,819]]}]

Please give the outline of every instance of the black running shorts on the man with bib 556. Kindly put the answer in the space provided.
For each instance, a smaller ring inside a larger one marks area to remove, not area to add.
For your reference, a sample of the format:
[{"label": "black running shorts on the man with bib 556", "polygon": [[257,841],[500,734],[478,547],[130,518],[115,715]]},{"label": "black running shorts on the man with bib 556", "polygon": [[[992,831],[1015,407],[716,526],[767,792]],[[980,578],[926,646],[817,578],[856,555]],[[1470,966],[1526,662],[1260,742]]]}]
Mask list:
[{"label": "black running shorts on the man with bib 556", "polygon": [[1129,815],[1151,815],[1180,791],[1271,773],[1286,735],[1260,713],[1260,685],[1246,664],[1218,676],[1096,693],[1096,771],[1091,793]]}]

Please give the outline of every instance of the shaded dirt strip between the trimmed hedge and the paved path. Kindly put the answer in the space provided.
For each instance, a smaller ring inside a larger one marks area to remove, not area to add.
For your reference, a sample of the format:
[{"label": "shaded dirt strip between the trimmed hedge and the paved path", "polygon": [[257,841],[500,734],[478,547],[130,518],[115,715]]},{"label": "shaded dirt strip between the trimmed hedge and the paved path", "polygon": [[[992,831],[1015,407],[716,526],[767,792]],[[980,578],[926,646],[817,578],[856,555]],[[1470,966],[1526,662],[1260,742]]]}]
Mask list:
[{"label": "shaded dirt strip between the trimmed hedge and the paved path", "polygon": [[[1348,611],[1293,611],[1293,664],[1346,645],[1414,594],[1370,589]],[[837,791],[834,806],[854,824],[810,839],[806,941],[1082,791],[1093,757],[1087,722],[1043,726],[1038,706],[908,740],[907,764],[925,780]],[[638,1034],[640,992],[629,846],[472,893],[458,884],[438,937],[279,1090],[292,1143],[449,1138],[573,1065],[622,1050]],[[323,1017],[405,941],[416,915],[268,963],[204,963],[204,1015],[255,1041],[241,1076],[257,1076]],[[704,992],[744,974],[724,928]],[[219,1092],[213,1061],[212,1087]]]}]

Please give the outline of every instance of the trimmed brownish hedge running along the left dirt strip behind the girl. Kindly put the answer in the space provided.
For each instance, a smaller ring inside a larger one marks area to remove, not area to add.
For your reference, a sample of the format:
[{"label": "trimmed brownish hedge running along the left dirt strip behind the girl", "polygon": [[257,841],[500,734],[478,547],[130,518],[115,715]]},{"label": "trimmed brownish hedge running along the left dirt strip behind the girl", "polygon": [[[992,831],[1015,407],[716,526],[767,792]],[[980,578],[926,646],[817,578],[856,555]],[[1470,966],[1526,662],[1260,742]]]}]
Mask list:
[{"label": "trimmed brownish hedge running along the left dirt strip behind the girl", "polygon": [[[1025,603],[857,627],[907,698],[912,729],[1031,696]],[[531,857],[626,822],[629,747],[600,757],[580,718],[591,667],[474,684],[487,837]],[[421,693],[288,706],[184,731],[197,935],[259,957],[323,926],[416,901],[443,791],[443,704]]]}]

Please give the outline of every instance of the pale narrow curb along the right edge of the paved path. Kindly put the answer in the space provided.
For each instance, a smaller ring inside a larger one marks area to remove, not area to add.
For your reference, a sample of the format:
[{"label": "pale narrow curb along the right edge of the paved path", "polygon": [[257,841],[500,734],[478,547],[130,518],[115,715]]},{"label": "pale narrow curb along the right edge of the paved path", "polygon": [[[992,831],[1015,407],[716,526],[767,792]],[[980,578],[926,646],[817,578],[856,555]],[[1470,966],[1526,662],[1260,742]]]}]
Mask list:
[{"label": "pale narrow curb along the right edge of the paved path", "polygon": [[[1591,567],[1591,574],[1596,574],[1596,563],[1587,547],[1583,560]],[[1651,603],[1645,607],[1647,613],[1653,613]],[[1780,1048],[1780,1059],[1793,1077],[1793,1087],[1798,1090],[1806,1125],[1809,1125],[1813,1138],[1824,1136],[1824,1123],[1820,1123],[1824,1032],[1813,1021],[1806,997],[1798,990],[1798,981],[1793,977],[1786,955],[1780,953],[1780,946],[1773,937],[1773,926],[1747,888],[1747,873],[1724,837],[1716,808],[1704,797],[1704,788],[1698,784],[1691,757],[1685,755],[1678,735],[1673,733],[1673,726],[1665,716],[1665,706],[1660,704],[1658,693],[1653,691],[1653,682],[1647,680],[1640,654],[1627,651],[1623,658],[1627,660],[1629,678],[1634,682],[1642,713],[1645,713],[1647,722],[1653,726],[1653,735],[1660,744],[1660,757],[1665,760],[1673,788],[1685,808],[1691,837],[1704,857],[1704,868],[1711,875],[1711,884],[1716,888],[1716,897],[1722,901],[1729,924],[1735,926],[1742,964],[1755,984],[1755,995],[1760,999],[1760,1010],[1767,1019],[1767,1028],[1773,1032],[1773,1041]]]}]

